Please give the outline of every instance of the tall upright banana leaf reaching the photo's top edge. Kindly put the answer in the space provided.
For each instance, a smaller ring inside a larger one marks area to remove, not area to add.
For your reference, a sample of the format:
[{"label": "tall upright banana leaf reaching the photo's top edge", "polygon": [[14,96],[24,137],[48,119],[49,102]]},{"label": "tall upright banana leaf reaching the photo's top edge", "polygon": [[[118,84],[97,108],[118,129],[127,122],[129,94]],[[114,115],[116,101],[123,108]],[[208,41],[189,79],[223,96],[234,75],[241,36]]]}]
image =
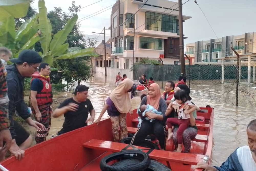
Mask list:
[{"label": "tall upright banana leaf reaching the photo's top edge", "polygon": [[38,1],[38,9],[39,9],[39,26],[38,28],[41,31],[41,36],[44,38],[41,39],[41,47],[43,50],[43,54],[46,54],[49,51],[49,45],[51,42],[51,23],[50,20],[47,18],[47,9],[45,7],[45,1],[39,0]]}]

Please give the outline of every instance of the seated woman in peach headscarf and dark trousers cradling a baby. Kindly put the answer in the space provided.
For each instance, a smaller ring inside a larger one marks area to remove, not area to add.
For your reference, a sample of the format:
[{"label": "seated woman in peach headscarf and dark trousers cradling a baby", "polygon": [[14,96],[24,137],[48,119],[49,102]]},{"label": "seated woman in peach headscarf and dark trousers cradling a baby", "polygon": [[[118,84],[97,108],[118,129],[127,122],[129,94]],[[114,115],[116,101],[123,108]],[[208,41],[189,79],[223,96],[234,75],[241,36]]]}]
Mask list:
[{"label": "seated woman in peach headscarf and dark trousers cradling a baby", "polygon": [[[160,87],[158,84],[153,83],[148,88],[148,95],[143,97],[141,101],[141,105],[151,105],[159,112],[162,112],[162,115],[154,114],[151,112],[146,112],[146,117],[149,120],[142,120],[141,127],[134,134],[131,144],[136,145],[141,142],[141,140],[145,139],[147,135],[155,134],[157,139],[159,140],[159,144],[161,149],[165,149],[165,111],[167,109],[167,104],[163,98],[161,98]],[[140,112],[139,112],[140,115]],[[155,119],[150,122],[150,119]]]}]

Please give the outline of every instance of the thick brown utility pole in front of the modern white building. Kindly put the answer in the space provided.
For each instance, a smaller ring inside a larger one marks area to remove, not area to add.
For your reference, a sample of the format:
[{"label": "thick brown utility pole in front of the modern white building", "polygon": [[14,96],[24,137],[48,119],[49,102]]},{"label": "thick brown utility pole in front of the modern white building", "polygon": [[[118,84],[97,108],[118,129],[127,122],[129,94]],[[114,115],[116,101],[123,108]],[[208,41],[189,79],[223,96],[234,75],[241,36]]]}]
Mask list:
[{"label": "thick brown utility pole in front of the modern white building", "polygon": [[181,71],[181,75],[186,76],[186,72],[185,72],[185,58],[184,58],[182,0],[179,0],[178,3],[179,3],[179,53],[180,53],[180,71]]}]

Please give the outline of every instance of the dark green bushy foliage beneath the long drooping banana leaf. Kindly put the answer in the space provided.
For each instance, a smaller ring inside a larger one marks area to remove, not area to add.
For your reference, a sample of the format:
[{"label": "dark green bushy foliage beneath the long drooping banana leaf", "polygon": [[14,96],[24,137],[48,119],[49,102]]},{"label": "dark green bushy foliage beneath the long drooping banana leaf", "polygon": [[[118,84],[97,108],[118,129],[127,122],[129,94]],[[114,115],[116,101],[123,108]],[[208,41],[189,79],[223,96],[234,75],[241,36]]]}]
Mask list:
[{"label": "dark green bushy foliage beneath the long drooping banana leaf", "polygon": [[67,89],[74,87],[74,81],[86,81],[90,78],[90,57],[56,60],[55,65],[60,68],[62,78],[67,81]]}]

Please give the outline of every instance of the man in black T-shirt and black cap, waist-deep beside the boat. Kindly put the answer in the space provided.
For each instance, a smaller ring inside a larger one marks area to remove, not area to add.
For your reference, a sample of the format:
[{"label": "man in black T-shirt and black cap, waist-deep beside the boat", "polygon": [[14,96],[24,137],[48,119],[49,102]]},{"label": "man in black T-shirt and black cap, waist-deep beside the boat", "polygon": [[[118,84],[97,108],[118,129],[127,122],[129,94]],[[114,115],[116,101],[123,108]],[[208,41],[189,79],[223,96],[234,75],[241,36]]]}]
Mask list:
[{"label": "man in black T-shirt and black cap, waist-deep beside the boat", "polygon": [[[88,97],[88,89],[85,85],[78,85],[73,92],[74,97],[66,99],[60,106],[54,110],[52,116],[57,118],[64,114],[65,121],[58,135],[87,126],[92,123],[95,117],[95,111]],[[88,114],[91,117],[88,119]]]}]

